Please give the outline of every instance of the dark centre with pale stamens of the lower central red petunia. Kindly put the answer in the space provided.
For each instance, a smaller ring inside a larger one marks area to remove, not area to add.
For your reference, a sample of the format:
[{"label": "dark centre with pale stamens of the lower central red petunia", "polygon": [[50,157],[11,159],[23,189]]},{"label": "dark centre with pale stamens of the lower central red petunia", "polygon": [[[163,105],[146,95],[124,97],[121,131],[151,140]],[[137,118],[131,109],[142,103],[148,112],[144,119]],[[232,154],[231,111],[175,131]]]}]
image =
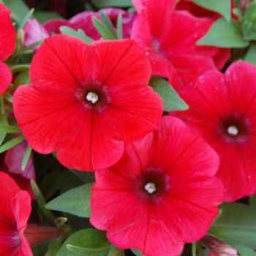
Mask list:
[{"label": "dark centre with pale stamens of the lower central red petunia", "polygon": [[169,176],[162,172],[160,168],[150,167],[143,171],[138,181],[138,189],[143,197],[157,199],[169,189]]}]

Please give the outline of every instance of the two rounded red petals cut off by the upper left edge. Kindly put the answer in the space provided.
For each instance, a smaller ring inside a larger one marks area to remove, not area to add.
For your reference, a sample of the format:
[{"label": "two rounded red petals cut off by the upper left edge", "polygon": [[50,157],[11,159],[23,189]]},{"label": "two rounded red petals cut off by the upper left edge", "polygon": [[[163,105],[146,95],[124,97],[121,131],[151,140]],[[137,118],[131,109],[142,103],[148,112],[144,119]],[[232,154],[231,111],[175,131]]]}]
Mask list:
[{"label": "two rounded red petals cut off by the upper left edge", "polygon": [[[10,10],[0,3],[0,61],[6,60],[15,50],[15,28],[10,18]],[[0,95],[10,86],[12,72],[7,64],[0,62]]]}]

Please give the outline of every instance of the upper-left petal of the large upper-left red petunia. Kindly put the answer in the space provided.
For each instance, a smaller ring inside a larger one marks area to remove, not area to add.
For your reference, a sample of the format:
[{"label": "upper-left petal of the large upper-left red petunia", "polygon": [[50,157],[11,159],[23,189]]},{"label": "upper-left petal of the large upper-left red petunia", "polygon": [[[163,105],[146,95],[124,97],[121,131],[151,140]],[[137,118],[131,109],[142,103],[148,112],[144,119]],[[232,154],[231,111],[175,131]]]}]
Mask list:
[{"label": "upper-left petal of the large upper-left red petunia", "polygon": [[50,91],[75,93],[85,82],[85,74],[91,74],[88,47],[76,37],[48,37],[31,62],[31,83]]}]

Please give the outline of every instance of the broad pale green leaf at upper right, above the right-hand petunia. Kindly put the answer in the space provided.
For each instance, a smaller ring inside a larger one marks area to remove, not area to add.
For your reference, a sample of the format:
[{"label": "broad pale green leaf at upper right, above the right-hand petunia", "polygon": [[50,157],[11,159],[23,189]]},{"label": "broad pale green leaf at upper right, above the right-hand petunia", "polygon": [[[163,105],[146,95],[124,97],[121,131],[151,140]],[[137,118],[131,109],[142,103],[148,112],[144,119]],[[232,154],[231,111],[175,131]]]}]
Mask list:
[{"label": "broad pale green leaf at upper right, above the right-hand petunia", "polygon": [[219,18],[208,30],[207,34],[197,41],[197,45],[211,45],[222,48],[244,48],[249,42],[241,36],[241,27],[236,20],[228,22]]}]

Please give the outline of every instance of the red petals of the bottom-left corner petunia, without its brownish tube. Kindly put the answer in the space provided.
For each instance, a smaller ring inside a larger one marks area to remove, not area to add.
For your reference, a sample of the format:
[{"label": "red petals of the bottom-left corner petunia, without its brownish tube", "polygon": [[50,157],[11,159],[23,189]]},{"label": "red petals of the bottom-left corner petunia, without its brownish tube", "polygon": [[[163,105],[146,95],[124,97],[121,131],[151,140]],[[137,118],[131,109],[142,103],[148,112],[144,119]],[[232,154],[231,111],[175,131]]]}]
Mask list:
[{"label": "red petals of the bottom-left corner petunia, without its brownish tube", "polygon": [[32,256],[24,236],[31,212],[28,192],[20,190],[15,181],[0,172],[0,255]]}]

